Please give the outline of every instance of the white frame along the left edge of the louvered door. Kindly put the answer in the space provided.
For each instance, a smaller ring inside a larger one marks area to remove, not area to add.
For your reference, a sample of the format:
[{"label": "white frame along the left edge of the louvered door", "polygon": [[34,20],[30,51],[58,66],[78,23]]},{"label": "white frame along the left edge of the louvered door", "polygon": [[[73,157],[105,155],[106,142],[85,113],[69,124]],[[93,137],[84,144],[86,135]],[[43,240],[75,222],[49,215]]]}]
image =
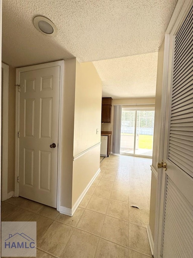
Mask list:
[{"label": "white frame along the left edge of the louvered door", "polygon": [[[164,150],[164,138],[165,138],[165,119],[166,119],[166,98],[168,94],[168,85],[172,80],[172,51],[173,42],[170,42],[170,33],[173,30],[177,30],[180,27],[181,22],[187,15],[193,1],[192,0],[179,0],[176,4],[176,8],[173,12],[172,18],[169,22],[168,28],[165,34],[165,45],[164,45],[164,60],[163,60],[163,84],[162,84],[162,103],[161,103],[161,116],[160,116],[160,142],[159,142],[159,160],[163,159]],[[174,24],[177,22],[178,28],[174,28]],[[166,180],[163,177],[163,169],[158,171],[157,179],[157,197],[156,197],[156,217],[155,217],[155,232],[154,232],[154,250],[153,257],[160,258],[162,254],[162,243],[163,243],[163,227],[164,227],[164,204],[165,204],[165,193]]]}]

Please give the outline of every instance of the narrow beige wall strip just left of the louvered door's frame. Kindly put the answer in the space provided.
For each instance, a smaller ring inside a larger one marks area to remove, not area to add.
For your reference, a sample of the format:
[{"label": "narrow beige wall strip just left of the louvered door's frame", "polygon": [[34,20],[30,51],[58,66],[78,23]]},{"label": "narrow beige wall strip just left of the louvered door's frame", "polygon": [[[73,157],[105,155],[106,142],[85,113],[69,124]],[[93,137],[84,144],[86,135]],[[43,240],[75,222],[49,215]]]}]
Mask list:
[{"label": "narrow beige wall strip just left of the louvered door's frame", "polygon": [[[156,171],[157,171],[156,163],[158,162],[159,147],[160,147],[159,140],[160,140],[160,113],[161,113],[162,81],[163,81],[163,54],[164,54],[164,41],[158,52],[158,64],[157,64],[155,122],[154,122],[153,159],[152,159],[152,165]],[[153,240],[154,240],[154,231],[155,231],[156,193],[157,193],[157,178],[152,173],[149,225],[153,236]]]}]

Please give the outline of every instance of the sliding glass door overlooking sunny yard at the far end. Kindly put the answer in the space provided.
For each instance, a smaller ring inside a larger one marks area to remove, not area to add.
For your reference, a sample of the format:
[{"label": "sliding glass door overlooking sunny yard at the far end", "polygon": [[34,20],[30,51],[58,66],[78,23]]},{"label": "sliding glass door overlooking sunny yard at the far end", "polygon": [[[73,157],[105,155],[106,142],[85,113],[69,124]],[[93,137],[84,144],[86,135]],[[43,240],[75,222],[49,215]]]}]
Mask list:
[{"label": "sliding glass door overlooking sunny yard at the far end", "polygon": [[154,113],[122,108],[120,154],[152,157]]}]

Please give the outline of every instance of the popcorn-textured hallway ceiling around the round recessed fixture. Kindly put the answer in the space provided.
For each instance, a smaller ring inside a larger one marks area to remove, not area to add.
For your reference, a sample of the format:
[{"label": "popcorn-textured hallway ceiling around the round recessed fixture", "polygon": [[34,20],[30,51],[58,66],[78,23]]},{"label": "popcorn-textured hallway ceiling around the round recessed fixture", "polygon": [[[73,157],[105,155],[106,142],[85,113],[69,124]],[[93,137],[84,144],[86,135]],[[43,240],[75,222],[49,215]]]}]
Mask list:
[{"label": "popcorn-textured hallway ceiling around the round recessed fixture", "polygon": [[[176,2],[3,0],[2,60],[20,67],[72,57],[87,62],[156,52]],[[50,38],[38,32],[33,26],[36,15],[52,20],[58,34]]]}]

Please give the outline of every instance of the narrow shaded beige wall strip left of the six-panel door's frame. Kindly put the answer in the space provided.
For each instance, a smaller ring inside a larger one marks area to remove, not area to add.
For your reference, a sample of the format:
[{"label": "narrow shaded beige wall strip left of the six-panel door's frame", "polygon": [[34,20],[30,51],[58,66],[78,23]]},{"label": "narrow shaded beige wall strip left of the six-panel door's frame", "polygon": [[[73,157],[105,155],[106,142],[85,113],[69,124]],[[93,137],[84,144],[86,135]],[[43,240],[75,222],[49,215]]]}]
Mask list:
[{"label": "narrow shaded beige wall strip left of the six-panel door's frame", "polygon": [[9,66],[8,193],[15,189],[15,72]]}]

